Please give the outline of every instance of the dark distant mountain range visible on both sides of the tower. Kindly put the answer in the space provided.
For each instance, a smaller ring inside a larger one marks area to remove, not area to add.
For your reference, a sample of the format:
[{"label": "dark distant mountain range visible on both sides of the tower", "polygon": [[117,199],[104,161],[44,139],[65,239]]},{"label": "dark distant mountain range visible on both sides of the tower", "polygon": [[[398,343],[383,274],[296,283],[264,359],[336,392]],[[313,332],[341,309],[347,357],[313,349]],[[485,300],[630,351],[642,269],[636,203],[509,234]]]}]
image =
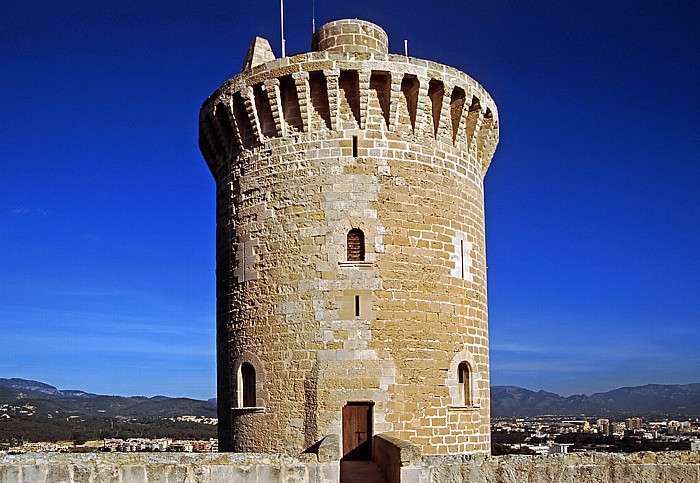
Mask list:
[{"label": "dark distant mountain range visible on both sides of the tower", "polygon": [[[62,417],[216,417],[215,400],[104,396],[80,390],[59,390],[49,384],[17,378],[0,378],[0,406],[3,404],[15,407],[29,404],[37,414]],[[697,417],[700,415],[700,384],[647,384],[568,397],[517,386],[491,387],[492,417],[546,415]]]}]

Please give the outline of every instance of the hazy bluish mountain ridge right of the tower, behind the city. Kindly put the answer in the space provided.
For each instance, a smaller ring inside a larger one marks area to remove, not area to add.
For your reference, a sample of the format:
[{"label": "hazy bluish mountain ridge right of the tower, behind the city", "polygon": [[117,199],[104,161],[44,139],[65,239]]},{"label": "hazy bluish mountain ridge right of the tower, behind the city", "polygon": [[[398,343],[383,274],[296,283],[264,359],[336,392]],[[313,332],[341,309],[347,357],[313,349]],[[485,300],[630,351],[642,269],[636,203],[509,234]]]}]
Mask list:
[{"label": "hazy bluish mountain ridge right of the tower, behind the city", "polygon": [[621,387],[608,392],[563,397],[517,386],[491,387],[491,416],[700,415],[700,384]]}]

